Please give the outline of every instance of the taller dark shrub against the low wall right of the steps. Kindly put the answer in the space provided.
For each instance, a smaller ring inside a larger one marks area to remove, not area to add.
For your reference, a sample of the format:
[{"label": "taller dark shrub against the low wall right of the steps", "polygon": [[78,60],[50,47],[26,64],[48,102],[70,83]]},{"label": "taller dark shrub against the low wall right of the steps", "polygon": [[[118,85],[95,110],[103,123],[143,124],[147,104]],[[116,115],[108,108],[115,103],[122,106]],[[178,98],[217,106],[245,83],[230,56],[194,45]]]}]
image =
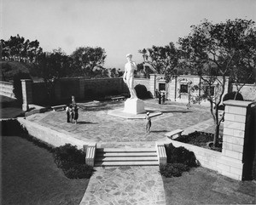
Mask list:
[{"label": "taller dark shrub against the low wall right of the steps", "polygon": [[197,167],[195,154],[188,151],[183,146],[175,147],[174,145],[166,145],[166,156],[168,163],[183,163],[189,168]]}]

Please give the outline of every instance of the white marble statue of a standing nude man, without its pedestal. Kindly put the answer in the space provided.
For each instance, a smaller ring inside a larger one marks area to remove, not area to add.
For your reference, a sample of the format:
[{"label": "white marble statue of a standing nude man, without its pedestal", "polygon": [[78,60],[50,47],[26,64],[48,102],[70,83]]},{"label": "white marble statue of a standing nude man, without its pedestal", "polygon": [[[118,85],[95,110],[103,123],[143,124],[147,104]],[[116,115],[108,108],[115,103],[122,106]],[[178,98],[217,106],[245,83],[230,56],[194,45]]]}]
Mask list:
[{"label": "white marble statue of a standing nude man, without its pedestal", "polygon": [[127,84],[131,98],[137,99],[136,90],[134,88],[134,71],[137,71],[137,65],[131,60],[132,54],[126,54],[126,59],[128,62],[125,64],[125,73],[123,76],[124,82]]}]

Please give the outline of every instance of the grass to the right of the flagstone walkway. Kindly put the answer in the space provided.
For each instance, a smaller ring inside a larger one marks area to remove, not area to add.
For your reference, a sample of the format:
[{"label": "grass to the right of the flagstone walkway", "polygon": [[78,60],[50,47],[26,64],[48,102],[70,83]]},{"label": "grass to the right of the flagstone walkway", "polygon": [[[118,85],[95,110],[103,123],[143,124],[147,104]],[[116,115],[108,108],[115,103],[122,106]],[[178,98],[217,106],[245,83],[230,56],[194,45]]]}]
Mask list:
[{"label": "grass to the right of the flagstone walkway", "polygon": [[166,204],[255,204],[256,184],[224,177],[207,168],[192,168],[181,177],[162,177]]}]

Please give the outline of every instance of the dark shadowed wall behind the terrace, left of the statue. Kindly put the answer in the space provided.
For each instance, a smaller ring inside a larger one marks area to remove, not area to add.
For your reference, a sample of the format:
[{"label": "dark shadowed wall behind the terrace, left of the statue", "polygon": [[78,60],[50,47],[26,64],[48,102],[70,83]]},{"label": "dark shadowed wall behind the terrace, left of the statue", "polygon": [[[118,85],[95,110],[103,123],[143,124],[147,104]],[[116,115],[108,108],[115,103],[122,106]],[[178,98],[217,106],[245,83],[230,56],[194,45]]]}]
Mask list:
[{"label": "dark shadowed wall behind the terrace, left of the statue", "polygon": [[[65,77],[55,83],[55,100],[68,100],[72,95],[77,99],[90,99],[127,92],[128,88],[122,78]],[[47,98],[46,84],[44,82],[32,83],[33,104],[40,104]]]}]

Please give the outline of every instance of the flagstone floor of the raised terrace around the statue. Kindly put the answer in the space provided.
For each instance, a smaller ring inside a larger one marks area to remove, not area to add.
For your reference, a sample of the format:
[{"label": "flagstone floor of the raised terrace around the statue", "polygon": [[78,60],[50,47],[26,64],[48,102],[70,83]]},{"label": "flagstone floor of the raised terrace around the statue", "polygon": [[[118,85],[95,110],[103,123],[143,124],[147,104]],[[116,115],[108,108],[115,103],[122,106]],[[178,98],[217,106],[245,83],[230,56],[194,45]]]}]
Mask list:
[{"label": "flagstone floor of the raised terrace around the statue", "polygon": [[[145,107],[161,111],[163,114],[152,118],[152,128],[146,133],[143,119],[125,119],[108,115],[109,110],[124,106],[119,103],[79,104],[79,122],[67,123],[65,111],[49,111],[44,114],[35,114],[26,117],[32,122],[43,126],[76,134],[80,140],[93,140],[102,147],[116,147],[121,145],[153,145],[154,141],[165,141],[167,132],[177,128],[200,128],[207,130],[213,125],[212,117],[207,108],[192,107],[189,110],[185,105],[158,105],[154,100],[145,100]],[[195,127],[195,124],[201,123]],[[211,130],[210,130],[211,131]]]}]

